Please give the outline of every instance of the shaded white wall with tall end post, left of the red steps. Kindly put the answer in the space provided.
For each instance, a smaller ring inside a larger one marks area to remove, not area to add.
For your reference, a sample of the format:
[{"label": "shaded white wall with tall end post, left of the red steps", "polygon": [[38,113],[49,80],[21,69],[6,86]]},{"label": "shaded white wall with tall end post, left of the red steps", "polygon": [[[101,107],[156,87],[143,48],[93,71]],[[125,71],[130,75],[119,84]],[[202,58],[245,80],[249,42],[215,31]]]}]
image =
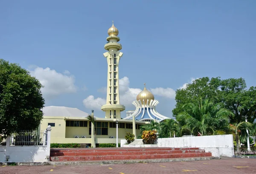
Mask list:
[{"label": "shaded white wall with tall end post, left of the red steps", "polygon": [[6,146],[0,145],[0,162],[48,162],[50,156],[50,136],[51,126],[47,128],[47,145],[10,145],[11,137],[8,136]]}]

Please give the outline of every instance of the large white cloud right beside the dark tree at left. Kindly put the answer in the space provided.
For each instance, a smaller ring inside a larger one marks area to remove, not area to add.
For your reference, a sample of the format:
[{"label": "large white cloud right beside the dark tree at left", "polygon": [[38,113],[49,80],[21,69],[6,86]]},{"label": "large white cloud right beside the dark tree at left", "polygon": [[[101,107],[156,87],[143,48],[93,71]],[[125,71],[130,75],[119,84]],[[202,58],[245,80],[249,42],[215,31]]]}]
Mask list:
[{"label": "large white cloud right beside the dark tree at left", "polygon": [[[67,73],[67,71],[65,71]],[[42,93],[45,99],[50,99],[63,93],[76,93],[75,77],[72,75],[64,75],[50,68],[35,67],[30,71],[44,88]]]}]

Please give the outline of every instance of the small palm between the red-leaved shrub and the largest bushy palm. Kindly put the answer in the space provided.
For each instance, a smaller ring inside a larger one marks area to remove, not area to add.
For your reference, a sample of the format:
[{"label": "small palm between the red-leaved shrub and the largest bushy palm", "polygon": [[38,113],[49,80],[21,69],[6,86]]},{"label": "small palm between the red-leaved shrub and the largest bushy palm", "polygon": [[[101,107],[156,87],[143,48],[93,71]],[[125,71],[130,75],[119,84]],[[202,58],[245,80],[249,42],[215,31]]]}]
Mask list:
[{"label": "small palm between the red-leaved shrub and the largest bushy palm", "polygon": [[175,136],[175,132],[179,131],[178,122],[175,119],[165,119],[160,122],[159,138],[172,137],[172,133]]}]

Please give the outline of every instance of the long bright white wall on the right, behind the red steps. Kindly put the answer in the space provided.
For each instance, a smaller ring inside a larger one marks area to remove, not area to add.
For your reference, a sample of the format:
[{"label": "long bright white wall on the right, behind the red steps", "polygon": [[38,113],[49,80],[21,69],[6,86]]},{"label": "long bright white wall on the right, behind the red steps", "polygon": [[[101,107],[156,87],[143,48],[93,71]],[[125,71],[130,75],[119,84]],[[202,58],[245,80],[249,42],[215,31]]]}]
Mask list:
[{"label": "long bright white wall on the right, behind the red steps", "polygon": [[186,136],[176,138],[158,138],[157,145],[143,145],[138,142],[132,145],[125,145],[126,140],[121,140],[121,147],[161,147],[161,148],[199,148],[211,152],[213,157],[233,157],[233,135],[212,135],[212,136]]}]

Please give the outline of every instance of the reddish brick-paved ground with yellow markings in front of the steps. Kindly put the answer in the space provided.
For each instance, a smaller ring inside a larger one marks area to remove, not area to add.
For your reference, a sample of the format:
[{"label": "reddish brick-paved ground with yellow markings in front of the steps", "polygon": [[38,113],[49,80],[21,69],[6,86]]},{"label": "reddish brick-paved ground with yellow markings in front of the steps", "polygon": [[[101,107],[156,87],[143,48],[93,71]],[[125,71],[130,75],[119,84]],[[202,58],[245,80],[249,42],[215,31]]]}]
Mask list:
[{"label": "reddish brick-paved ground with yellow markings in front of the steps", "polygon": [[0,174],[256,174],[256,159],[113,165],[0,166]]}]

